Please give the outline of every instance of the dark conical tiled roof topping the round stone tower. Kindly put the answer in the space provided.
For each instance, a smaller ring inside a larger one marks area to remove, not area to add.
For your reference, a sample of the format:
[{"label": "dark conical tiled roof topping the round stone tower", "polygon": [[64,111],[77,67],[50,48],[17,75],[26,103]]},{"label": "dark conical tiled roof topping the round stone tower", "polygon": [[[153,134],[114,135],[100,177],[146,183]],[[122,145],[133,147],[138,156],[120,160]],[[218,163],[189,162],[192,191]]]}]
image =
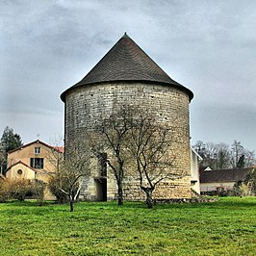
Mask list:
[{"label": "dark conical tiled roof topping the round stone tower", "polygon": [[[116,81],[166,84],[185,90],[191,100],[193,97],[191,90],[172,80],[126,33],[80,82],[68,90],[90,84]],[[68,90],[61,95],[63,101],[65,101],[65,93]]]}]

